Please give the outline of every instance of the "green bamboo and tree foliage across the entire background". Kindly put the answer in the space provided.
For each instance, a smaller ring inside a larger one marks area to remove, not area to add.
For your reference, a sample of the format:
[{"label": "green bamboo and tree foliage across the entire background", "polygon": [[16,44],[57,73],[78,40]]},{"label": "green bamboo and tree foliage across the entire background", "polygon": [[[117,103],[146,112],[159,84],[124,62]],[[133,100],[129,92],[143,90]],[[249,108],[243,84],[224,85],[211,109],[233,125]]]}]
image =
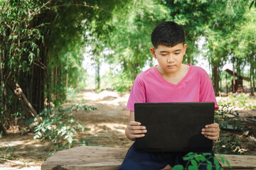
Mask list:
[{"label": "green bamboo and tree foliage across the entire background", "polygon": [[[184,63],[198,64],[201,55],[209,62],[216,95],[228,62],[250,77],[254,95],[255,6],[250,0],[0,0],[0,135],[20,120],[58,119],[53,106],[60,107],[74,89],[87,84],[84,53],[94,62],[97,90],[102,62],[107,62],[105,81],[117,91],[129,91],[136,75],[153,66],[150,35],[163,21],[183,26]],[[40,125],[36,137],[53,132]]]}]

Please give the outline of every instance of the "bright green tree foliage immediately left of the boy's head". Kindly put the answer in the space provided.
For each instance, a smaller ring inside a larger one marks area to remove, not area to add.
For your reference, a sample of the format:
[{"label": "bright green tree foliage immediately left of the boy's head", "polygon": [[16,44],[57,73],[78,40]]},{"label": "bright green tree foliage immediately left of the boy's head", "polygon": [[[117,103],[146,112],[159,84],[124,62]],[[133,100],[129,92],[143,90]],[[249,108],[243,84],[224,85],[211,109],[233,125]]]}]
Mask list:
[{"label": "bright green tree foliage immediately left of the boy's head", "polygon": [[[129,1],[124,10],[115,8],[107,45],[114,54],[107,57],[110,63],[122,65],[122,77],[132,81],[142,71],[146,61],[152,62],[149,48],[151,31],[162,21],[168,21],[169,11],[157,1]],[[151,63],[149,62],[149,63]]]}]

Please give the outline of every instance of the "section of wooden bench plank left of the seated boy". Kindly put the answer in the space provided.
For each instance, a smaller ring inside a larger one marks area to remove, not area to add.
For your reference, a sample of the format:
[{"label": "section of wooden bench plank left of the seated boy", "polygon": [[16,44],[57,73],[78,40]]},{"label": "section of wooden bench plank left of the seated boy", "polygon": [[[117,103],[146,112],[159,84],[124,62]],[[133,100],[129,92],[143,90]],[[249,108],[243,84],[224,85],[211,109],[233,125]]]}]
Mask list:
[{"label": "section of wooden bench plank left of the seated boy", "polygon": [[75,147],[56,152],[42,164],[42,170],[118,169],[127,149],[109,147]]}]

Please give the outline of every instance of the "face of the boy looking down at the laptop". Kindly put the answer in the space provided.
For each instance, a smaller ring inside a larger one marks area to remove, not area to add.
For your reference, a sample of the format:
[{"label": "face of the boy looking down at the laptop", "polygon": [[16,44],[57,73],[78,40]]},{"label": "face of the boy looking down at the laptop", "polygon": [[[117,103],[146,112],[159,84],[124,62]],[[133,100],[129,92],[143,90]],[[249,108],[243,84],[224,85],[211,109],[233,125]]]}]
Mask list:
[{"label": "face of the boy looking down at the laptop", "polygon": [[171,74],[181,68],[183,56],[186,53],[186,44],[178,44],[174,47],[159,45],[156,49],[150,48],[151,54],[158,61],[164,74]]}]

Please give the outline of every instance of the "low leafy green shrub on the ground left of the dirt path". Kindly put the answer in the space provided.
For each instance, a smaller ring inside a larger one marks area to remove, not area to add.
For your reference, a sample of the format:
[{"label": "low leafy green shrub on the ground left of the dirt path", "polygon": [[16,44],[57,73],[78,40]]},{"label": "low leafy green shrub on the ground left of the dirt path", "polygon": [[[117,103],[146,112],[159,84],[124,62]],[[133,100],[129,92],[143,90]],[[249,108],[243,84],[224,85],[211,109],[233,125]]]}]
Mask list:
[{"label": "low leafy green shrub on the ground left of the dirt path", "polygon": [[81,125],[77,119],[73,118],[71,111],[89,111],[96,108],[91,106],[71,106],[70,108],[63,109],[62,107],[53,108],[49,114],[49,110],[43,111],[39,116],[43,120],[35,128],[34,139],[40,138],[41,140],[51,140],[54,143],[53,150],[73,146],[73,135],[77,130],[89,130],[85,125]]}]

